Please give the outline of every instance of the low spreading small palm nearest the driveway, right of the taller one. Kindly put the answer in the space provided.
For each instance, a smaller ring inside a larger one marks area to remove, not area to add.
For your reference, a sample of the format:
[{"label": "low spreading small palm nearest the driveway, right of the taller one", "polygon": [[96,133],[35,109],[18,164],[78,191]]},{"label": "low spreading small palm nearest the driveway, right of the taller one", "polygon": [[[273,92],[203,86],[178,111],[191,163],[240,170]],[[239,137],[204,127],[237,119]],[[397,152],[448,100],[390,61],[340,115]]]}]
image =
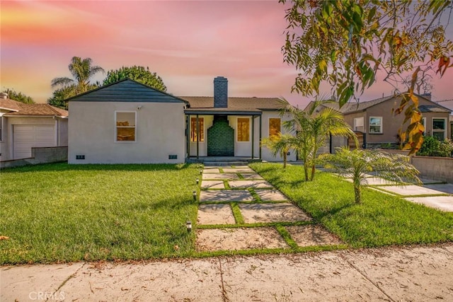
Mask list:
[{"label": "low spreading small palm nearest the driveway, right of the taller one", "polygon": [[374,171],[376,176],[405,185],[405,182],[420,185],[418,170],[409,163],[409,157],[401,154],[340,148],[335,154],[324,154],[321,161],[325,168],[339,176],[352,178],[355,202],[362,202],[362,186],[367,184],[365,173]]}]

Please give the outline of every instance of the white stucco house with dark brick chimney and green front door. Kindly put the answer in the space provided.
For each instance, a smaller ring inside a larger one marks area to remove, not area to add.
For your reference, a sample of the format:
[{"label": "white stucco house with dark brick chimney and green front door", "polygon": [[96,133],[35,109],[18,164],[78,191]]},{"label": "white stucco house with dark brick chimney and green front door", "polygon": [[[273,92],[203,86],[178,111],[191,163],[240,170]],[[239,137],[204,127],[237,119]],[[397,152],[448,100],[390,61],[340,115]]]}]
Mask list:
[{"label": "white stucco house with dark brick chimney and green front door", "polygon": [[[278,98],[229,98],[224,77],[214,79],[214,97],[175,97],[125,79],[69,99],[68,161],[183,163],[212,156],[273,161],[260,139],[282,131],[280,106]],[[289,160],[295,159],[290,153]]]}]

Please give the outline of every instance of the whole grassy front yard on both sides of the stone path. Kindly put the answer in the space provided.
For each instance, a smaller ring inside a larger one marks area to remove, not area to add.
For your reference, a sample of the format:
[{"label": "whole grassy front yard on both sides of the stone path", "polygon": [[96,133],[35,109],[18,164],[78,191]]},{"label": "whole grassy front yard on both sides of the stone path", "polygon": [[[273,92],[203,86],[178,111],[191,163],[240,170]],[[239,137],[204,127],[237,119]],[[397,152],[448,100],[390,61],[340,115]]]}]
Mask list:
[{"label": "whole grassy front yard on both sides of the stone path", "polygon": [[[303,168],[251,167],[352,248],[453,240],[453,213]],[[0,265],[228,255],[196,252],[198,165],[37,165],[1,171]],[[288,249],[286,252],[296,252]],[[260,252],[254,250],[253,252]],[[282,250],[263,250],[282,252]],[[238,252],[240,253],[240,252]]]}]

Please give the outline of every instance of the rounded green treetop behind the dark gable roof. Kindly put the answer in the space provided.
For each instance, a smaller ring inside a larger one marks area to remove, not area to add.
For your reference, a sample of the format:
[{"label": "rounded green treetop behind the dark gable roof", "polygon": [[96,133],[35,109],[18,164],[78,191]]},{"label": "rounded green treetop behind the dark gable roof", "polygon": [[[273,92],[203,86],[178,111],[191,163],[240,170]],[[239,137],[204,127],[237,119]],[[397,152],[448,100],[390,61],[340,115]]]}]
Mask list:
[{"label": "rounded green treetop behind the dark gable roof", "polygon": [[103,84],[115,83],[122,79],[132,79],[159,91],[167,91],[164,81],[155,72],[149,71],[149,67],[145,69],[144,66],[135,65],[131,67],[122,66],[120,69],[108,71]]}]

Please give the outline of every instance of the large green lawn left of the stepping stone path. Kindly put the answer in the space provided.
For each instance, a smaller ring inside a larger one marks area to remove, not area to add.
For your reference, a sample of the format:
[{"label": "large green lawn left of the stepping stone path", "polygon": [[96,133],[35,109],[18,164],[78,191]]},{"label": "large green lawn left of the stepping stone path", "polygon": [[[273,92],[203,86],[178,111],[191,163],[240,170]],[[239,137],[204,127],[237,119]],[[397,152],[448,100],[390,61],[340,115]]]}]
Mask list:
[{"label": "large green lawn left of the stepping stone path", "polygon": [[0,264],[191,255],[196,165],[36,165],[1,171]]}]

